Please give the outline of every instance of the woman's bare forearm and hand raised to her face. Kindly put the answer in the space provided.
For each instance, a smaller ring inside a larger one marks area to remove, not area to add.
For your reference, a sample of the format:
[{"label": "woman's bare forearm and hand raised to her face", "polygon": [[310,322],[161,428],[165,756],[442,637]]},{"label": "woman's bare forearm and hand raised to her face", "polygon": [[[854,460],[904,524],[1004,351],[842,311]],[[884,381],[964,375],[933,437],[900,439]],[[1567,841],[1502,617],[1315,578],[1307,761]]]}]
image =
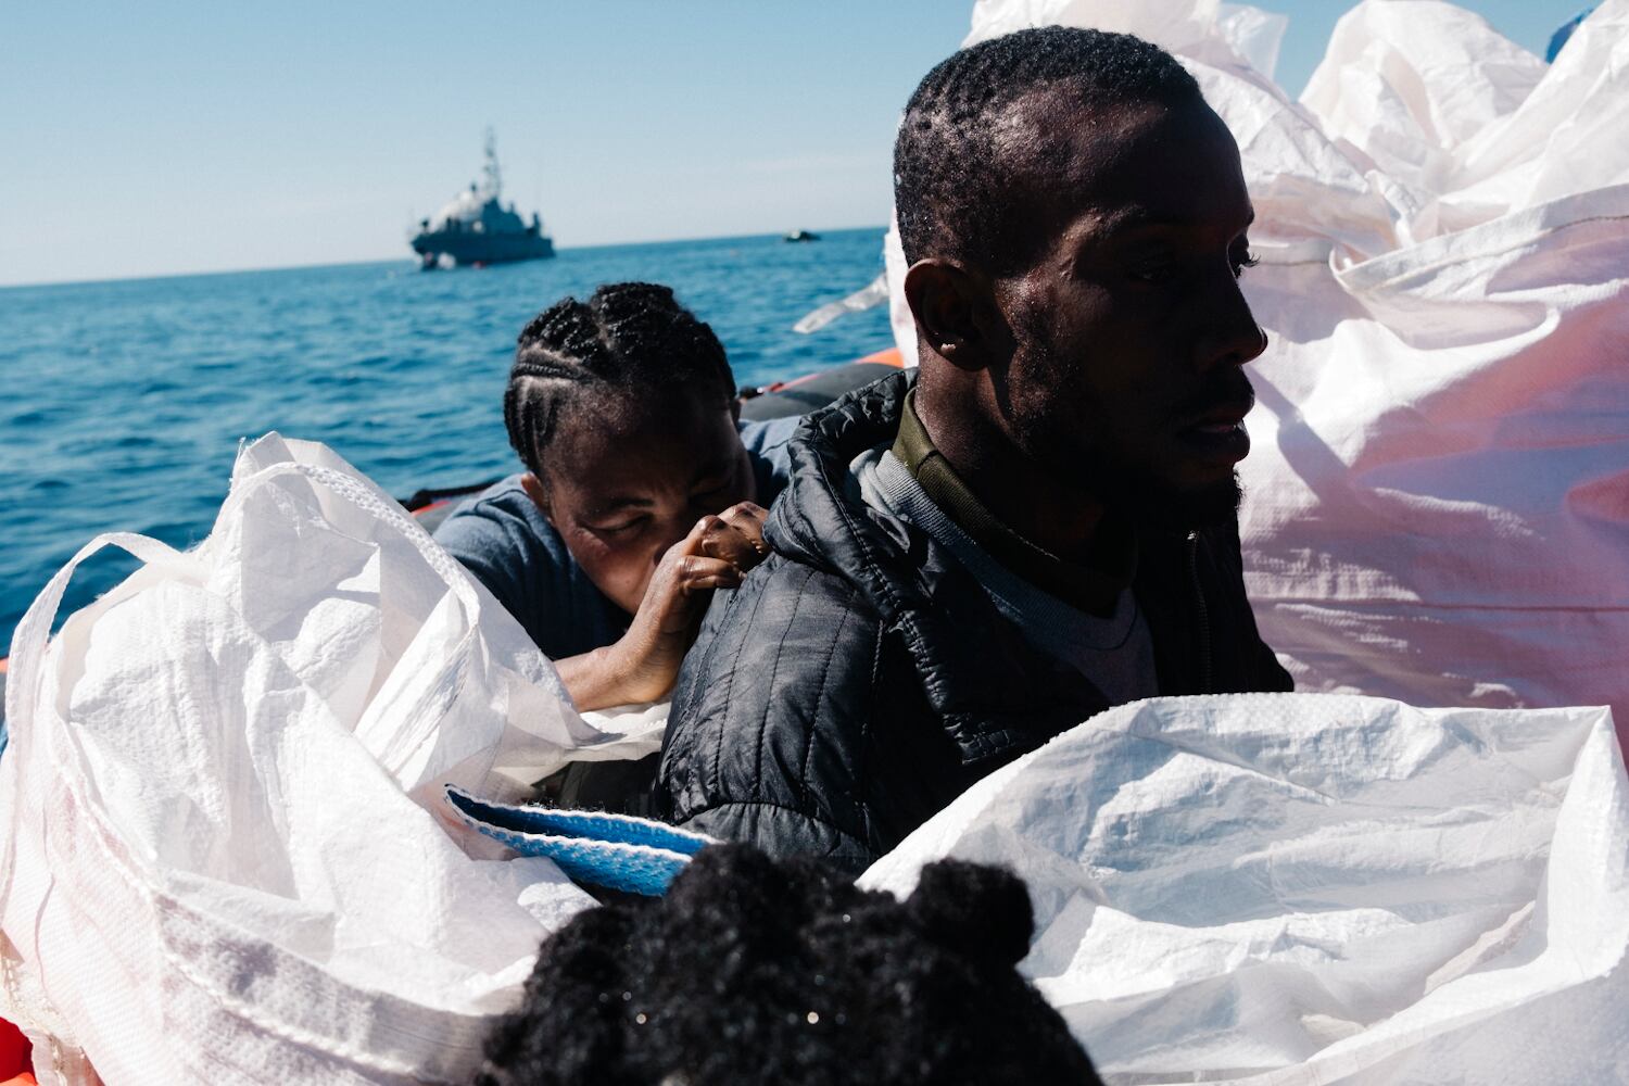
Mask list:
[{"label": "woman's bare forearm and hand raised to her face", "polygon": [[696,521],[684,539],[668,547],[627,633],[614,645],[555,664],[578,710],[655,702],[673,689],[712,589],[736,588],[769,554],[766,516],[761,506],[741,501]]}]

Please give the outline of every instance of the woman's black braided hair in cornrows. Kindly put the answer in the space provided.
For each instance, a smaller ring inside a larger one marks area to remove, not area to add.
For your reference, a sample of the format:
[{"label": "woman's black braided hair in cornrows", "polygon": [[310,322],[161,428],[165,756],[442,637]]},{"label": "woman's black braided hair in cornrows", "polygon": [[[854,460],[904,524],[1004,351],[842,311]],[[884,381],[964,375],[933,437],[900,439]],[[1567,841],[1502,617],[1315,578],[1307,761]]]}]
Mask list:
[{"label": "woman's black braided hair in cornrows", "polygon": [[673,298],[673,288],[604,283],[588,301],[560,298],[521,329],[503,391],[503,427],[521,462],[542,479],[542,453],[575,397],[655,399],[674,388],[727,404],[735,378],[723,344]]}]

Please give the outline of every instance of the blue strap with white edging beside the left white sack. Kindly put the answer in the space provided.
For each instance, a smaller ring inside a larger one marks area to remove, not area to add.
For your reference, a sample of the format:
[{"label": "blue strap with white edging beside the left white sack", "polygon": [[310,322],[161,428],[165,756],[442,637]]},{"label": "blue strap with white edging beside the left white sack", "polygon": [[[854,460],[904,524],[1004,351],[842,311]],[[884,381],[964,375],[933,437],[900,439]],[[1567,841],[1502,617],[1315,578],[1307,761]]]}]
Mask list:
[{"label": "blue strap with white edging beside the left white sack", "polygon": [[446,801],[487,837],[526,856],[547,856],[578,882],[647,897],[665,894],[691,856],[717,843],[632,814],[485,803],[454,785],[446,786]]}]

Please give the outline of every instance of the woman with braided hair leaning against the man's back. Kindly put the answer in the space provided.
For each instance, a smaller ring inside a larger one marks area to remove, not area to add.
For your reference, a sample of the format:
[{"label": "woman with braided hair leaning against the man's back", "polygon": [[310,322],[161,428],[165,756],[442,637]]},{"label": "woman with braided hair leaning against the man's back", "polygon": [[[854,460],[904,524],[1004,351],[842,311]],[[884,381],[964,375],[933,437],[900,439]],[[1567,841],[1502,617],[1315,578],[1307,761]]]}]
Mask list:
[{"label": "woman with braided hair leaning against the man's back", "polygon": [[762,554],[797,418],[740,422],[712,329],[653,283],[520,334],[503,423],[526,471],[435,537],[555,661],[580,710],[663,697],[714,588]]}]

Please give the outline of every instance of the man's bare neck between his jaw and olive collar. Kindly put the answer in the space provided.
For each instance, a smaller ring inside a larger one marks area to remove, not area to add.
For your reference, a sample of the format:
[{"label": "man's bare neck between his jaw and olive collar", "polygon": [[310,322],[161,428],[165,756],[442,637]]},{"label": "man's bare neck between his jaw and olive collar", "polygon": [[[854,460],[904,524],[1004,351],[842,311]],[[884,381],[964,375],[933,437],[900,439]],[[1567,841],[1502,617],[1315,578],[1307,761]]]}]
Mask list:
[{"label": "man's bare neck between his jaw and olive collar", "polygon": [[917,386],[917,417],[961,482],[1036,547],[1065,562],[1083,560],[1103,523],[1103,505],[1060,484],[1054,466],[1034,462],[977,412],[935,392],[940,389]]}]

